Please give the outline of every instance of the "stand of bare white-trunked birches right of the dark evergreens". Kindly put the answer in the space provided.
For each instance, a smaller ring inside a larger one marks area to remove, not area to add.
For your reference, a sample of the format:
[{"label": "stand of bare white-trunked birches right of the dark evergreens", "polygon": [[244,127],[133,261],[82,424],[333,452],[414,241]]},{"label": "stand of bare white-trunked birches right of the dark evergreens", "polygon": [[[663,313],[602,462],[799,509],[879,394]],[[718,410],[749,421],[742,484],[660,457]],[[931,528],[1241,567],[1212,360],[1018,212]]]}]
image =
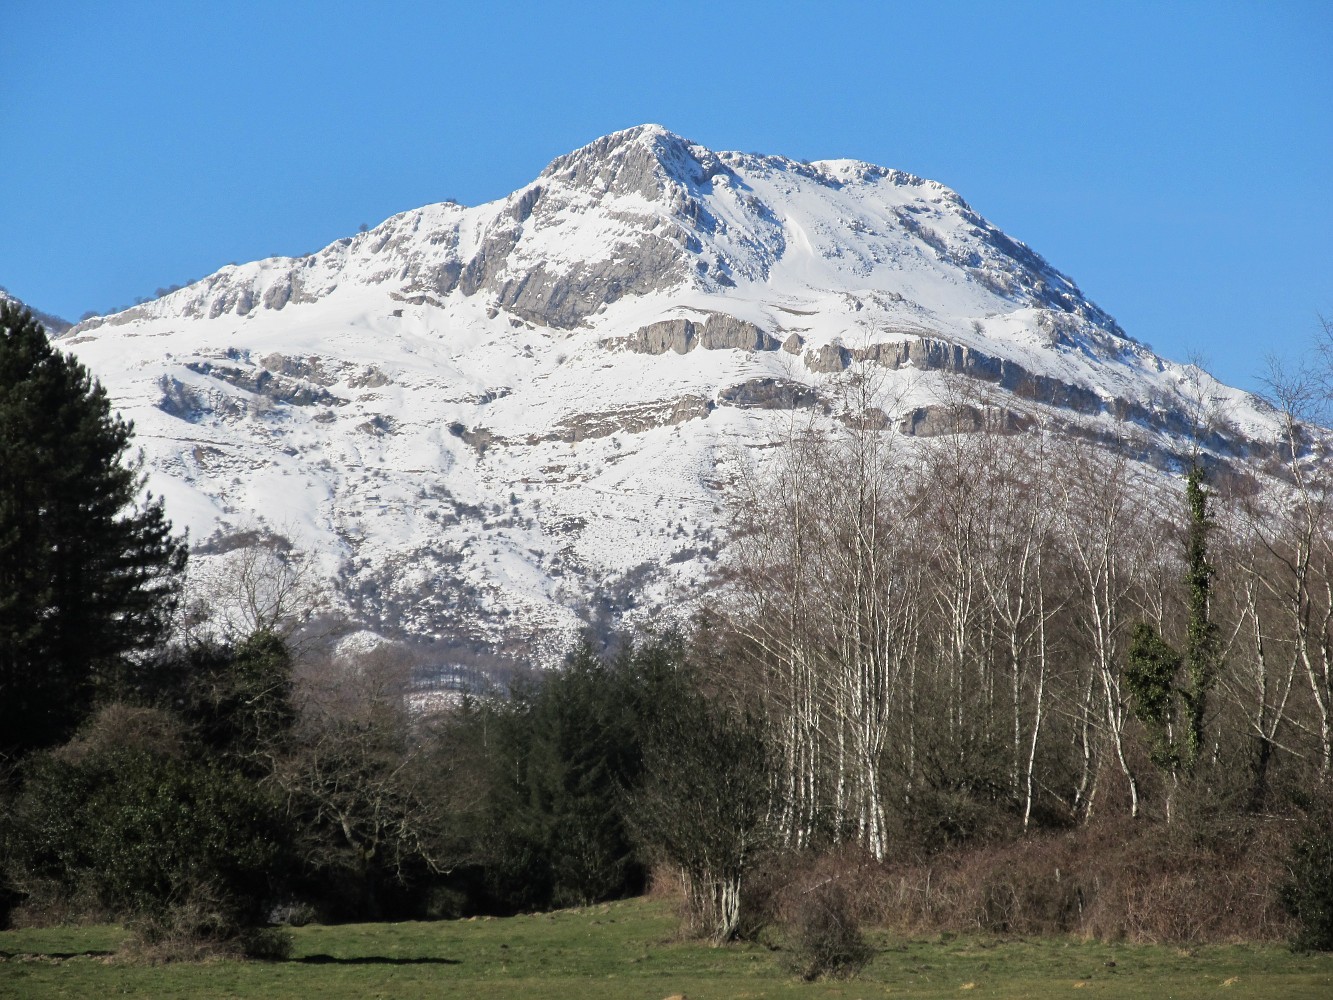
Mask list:
[{"label": "stand of bare white-trunked birches right of the dark evergreens", "polygon": [[812,431],[738,488],[721,619],[780,733],[788,843],[884,856],[889,811],[949,837],[1328,781],[1333,523],[1305,453],[1166,476],[1058,433],[932,445]]}]

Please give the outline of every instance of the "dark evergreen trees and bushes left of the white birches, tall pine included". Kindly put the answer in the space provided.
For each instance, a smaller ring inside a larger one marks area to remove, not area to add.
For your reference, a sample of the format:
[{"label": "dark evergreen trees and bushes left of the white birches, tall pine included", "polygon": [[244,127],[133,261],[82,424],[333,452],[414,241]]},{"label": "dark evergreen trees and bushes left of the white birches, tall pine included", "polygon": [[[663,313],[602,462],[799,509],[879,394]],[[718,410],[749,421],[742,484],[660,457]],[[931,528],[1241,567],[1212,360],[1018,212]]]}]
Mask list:
[{"label": "dark evergreen trees and bushes left of the white birches, tall pine included", "polygon": [[[192,629],[185,540],[143,495],[133,428],[3,308],[0,919],[119,917],[163,953],[275,956],[281,916],[587,903],[641,891],[657,845],[686,865],[708,849],[668,835],[694,788],[668,761],[693,753],[730,788],[729,748],[760,744],[737,744],[680,640],[581,645],[415,715],[393,649],[293,643],[304,584],[267,547],[240,560],[235,619]],[[705,811],[732,807],[714,792]]]}]

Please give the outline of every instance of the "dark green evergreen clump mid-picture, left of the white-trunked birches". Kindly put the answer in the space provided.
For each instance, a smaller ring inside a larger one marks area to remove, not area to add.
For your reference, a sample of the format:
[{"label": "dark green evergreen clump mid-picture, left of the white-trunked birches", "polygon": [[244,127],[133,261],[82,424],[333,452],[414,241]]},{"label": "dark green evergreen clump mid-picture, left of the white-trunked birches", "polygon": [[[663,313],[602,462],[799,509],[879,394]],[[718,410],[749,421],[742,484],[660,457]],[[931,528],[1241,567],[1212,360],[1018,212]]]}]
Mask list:
[{"label": "dark green evergreen clump mid-picture, left of the white-trunked birches", "polygon": [[584,641],[561,669],[457,716],[468,741],[484,748],[485,805],[473,840],[489,905],[579,905],[643,889],[628,800],[645,779],[653,720],[692,683],[674,635],[612,657]]}]

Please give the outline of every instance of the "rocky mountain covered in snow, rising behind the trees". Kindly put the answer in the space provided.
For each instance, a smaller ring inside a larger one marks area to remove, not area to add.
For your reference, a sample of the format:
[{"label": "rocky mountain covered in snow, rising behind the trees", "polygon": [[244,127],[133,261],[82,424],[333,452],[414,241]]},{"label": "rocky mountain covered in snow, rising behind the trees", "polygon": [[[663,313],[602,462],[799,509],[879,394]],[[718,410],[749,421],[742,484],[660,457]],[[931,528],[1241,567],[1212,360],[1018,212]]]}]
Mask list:
[{"label": "rocky mountain covered in snow, rising behind the trees", "polygon": [[657,125],[61,343],[135,420],[203,561],[268,531],[371,628],[508,649],[701,583],[720,483],[793,413],[834,420],[845,371],[882,373],[904,435],[978,389],[1010,423],[1134,428],[1169,461],[1200,387],[1229,416],[1214,453],[1274,435],[941,184]]}]

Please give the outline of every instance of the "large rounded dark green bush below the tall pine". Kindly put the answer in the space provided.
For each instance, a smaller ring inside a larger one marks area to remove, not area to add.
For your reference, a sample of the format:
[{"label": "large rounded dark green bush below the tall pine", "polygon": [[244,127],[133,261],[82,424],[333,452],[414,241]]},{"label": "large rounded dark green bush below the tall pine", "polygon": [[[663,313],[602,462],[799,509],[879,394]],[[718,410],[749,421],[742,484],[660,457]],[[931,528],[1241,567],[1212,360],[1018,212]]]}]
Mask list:
[{"label": "large rounded dark green bush below the tall pine", "polygon": [[15,871],[45,905],[127,920],[136,947],[272,955],[260,933],[284,864],[280,803],[240,772],[193,760],[151,713],[140,745],[104,739],[108,709],[76,741],[31,757],[15,803]]}]

